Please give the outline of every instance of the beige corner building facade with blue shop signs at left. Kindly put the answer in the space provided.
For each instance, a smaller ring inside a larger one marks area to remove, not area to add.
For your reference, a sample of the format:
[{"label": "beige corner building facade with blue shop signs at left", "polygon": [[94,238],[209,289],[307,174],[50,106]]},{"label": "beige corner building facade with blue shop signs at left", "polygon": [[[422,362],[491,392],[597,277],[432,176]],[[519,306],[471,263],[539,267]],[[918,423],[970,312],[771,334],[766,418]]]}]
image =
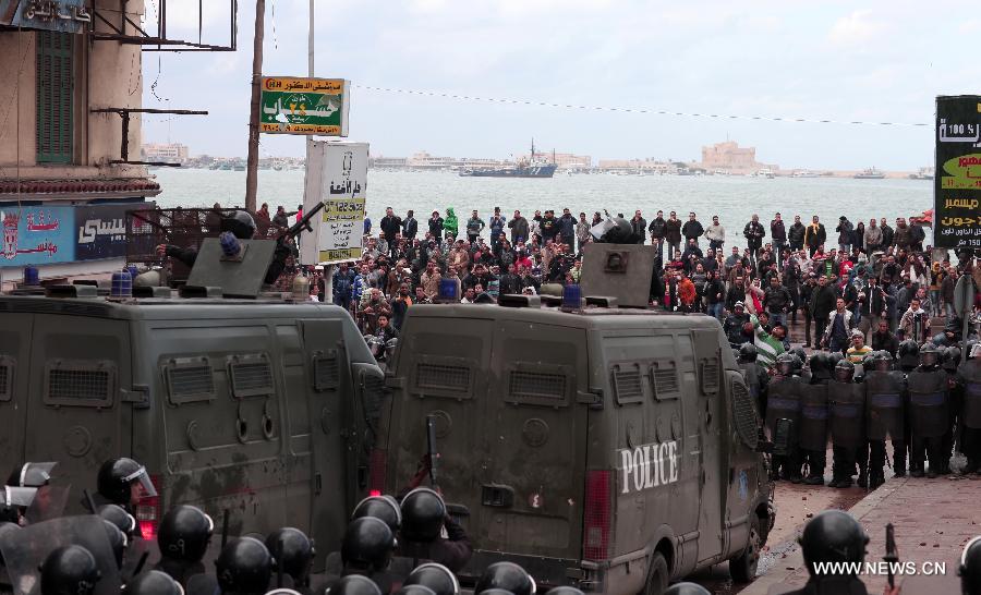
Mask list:
[{"label": "beige corner building facade with blue shop signs at left", "polygon": [[25,266],[43,280],[119,270],[125,211],[160,192],[145,167],[120,162],[141,145],[140,114],[124,131],[119,111],[142,107],[141,46],[94,37],[112,33],[96,12],[135,35],[144,2],[45,5],[0,1],[4,282],[19,281]]}]

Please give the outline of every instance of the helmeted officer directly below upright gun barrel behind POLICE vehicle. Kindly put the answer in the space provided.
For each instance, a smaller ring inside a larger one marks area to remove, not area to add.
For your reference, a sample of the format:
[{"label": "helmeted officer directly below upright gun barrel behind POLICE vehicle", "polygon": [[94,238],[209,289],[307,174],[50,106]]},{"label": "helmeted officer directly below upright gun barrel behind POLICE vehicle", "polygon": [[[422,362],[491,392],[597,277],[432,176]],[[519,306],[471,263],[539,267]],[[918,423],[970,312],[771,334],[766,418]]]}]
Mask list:
[{"label": "helmeted officer directly below upright gun barrel behind POLICE vehicle", "polygon": [[401,556],[432,560],[452,572],[462,570],[473,554],[467,532],[447,514],[443,496],[427,487],[417,487],[402,498],[401,535]]}]

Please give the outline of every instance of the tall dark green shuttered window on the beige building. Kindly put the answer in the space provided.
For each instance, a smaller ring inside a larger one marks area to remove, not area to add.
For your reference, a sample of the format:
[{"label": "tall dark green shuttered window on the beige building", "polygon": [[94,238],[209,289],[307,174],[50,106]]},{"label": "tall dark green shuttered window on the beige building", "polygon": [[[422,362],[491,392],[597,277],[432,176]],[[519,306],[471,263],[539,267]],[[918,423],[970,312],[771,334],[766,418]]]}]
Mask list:
[{"label": "tall dark green shuttered window on the beige building", "polygon": [[72,162],[74,36],[37,32],[37,162]]}]

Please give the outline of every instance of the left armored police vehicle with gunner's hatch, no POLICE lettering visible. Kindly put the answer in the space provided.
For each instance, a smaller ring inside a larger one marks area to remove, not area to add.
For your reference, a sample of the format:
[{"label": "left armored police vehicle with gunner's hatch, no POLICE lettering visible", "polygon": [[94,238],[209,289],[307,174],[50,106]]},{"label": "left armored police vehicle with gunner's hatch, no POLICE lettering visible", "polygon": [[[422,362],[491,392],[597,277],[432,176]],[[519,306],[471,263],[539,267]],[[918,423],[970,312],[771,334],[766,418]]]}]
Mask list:
[{"label": "left armored police vehicle with gunner's hatch, no POLICE lettering visible", "polygon": [[[243,242],[261,258],[211,259],[215,286],[254,278],[258,289],[269,243]],[[203,247],[194,270],[208,258]],[[81,512],[99,465],[131,457],[159,494],[135,508],[145,537],[193,503],[219,523],[228,511],[231,535],[302,527],[323,544],[323,568],[366,490],[384,398],[350,315],[217,287],[185,288],[197,299],[145,289],[155,296],[0,295],[0,469],[58,461],[68,510]]]}]

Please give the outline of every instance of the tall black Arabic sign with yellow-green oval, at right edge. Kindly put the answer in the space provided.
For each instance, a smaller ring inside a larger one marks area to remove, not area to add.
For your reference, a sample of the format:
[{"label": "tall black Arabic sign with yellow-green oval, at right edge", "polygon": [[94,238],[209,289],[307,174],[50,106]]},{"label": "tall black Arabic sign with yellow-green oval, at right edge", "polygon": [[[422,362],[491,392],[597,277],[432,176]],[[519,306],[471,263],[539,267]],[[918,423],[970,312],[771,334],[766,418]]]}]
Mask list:
[{"label": "tall black Arabic sign with yellow-green oval, at right edge", "polygon": [[981,96],[936,98],[933,201],[934,243],[981,248]]}]

